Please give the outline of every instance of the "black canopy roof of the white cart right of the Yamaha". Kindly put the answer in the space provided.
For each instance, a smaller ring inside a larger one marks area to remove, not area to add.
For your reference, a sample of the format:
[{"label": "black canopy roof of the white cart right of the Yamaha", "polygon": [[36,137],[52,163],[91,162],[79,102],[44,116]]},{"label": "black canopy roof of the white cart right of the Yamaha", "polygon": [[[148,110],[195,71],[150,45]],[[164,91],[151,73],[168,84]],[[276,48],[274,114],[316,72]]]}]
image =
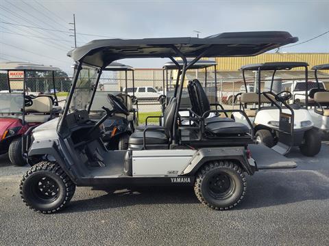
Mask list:
[{"label": "black canopy roof of the white cart right of the Yamaha", "polygon": [[308,66],[306,62],[299,61],[280,61],[280,62],[265,62],[263,64],[247,64],[242,66],[240,70],[256,71],[260,70],[291,70],[291,68],[300,68]]}]

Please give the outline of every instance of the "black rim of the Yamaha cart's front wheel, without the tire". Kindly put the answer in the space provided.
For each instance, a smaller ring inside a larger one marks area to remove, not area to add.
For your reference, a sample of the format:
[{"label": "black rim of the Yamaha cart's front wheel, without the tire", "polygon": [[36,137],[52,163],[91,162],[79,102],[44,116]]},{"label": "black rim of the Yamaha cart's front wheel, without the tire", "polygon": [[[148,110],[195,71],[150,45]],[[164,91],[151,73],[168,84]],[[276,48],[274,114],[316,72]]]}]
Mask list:
[{"label": "black rim of the Yamaha cart's front wheel, without the tire", "polygon": [[57,182],[49,177],[40,177],[32,185],[34,197],[41,203],[51,203],[58,198],[60,187]]}]

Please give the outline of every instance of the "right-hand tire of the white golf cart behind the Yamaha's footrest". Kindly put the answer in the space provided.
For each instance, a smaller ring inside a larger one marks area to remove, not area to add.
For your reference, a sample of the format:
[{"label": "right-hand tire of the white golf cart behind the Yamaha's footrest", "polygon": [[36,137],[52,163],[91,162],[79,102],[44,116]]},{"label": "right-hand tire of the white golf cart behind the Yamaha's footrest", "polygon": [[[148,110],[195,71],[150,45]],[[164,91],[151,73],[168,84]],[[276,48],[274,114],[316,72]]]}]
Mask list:
[{"label": "right-hand tire of the white golf cart behind the Yamaha's footrest", "polygon": [[300,152],[305,156],[315,156],[321,150],[321,135],[314,128],[304,133],[304,143],[300,145]]}]

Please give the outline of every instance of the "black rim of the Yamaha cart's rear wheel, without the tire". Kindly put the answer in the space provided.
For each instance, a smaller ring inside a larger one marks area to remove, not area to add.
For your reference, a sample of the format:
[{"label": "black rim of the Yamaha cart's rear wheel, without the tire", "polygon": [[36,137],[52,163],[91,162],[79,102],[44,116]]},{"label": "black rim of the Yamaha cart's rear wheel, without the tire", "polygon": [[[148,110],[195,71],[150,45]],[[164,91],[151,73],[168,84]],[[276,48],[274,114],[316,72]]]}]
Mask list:
[{"label": "black rim of the Yamaha cart's rear wheel, without the tire", "polygon": [[209,178],[208,190],[215,199],[225,200],[234,193],[235,182],[226,172],[219,172]]}]

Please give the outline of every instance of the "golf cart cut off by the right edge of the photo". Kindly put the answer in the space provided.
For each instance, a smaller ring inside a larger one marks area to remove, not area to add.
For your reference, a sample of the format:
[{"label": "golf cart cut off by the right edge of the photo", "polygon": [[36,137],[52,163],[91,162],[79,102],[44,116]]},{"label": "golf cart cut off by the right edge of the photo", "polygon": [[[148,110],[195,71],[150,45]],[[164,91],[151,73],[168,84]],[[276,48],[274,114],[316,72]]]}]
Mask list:
[{"label": "golf cart cut off by the right edge of the photo", "polygon": [[317,77],[317,71],[329,70],[329,64],[313,66],[312,69],[314,70],[317,88],[313,88],[310,91],[309,97],[311,100],[313,99],[313,105],[308,104],[311,107],[308,111],[312,117],[314,127],[319,129],[319,131],[329,133],[329,91],[324,89],[323,84],[319,82]]}]

